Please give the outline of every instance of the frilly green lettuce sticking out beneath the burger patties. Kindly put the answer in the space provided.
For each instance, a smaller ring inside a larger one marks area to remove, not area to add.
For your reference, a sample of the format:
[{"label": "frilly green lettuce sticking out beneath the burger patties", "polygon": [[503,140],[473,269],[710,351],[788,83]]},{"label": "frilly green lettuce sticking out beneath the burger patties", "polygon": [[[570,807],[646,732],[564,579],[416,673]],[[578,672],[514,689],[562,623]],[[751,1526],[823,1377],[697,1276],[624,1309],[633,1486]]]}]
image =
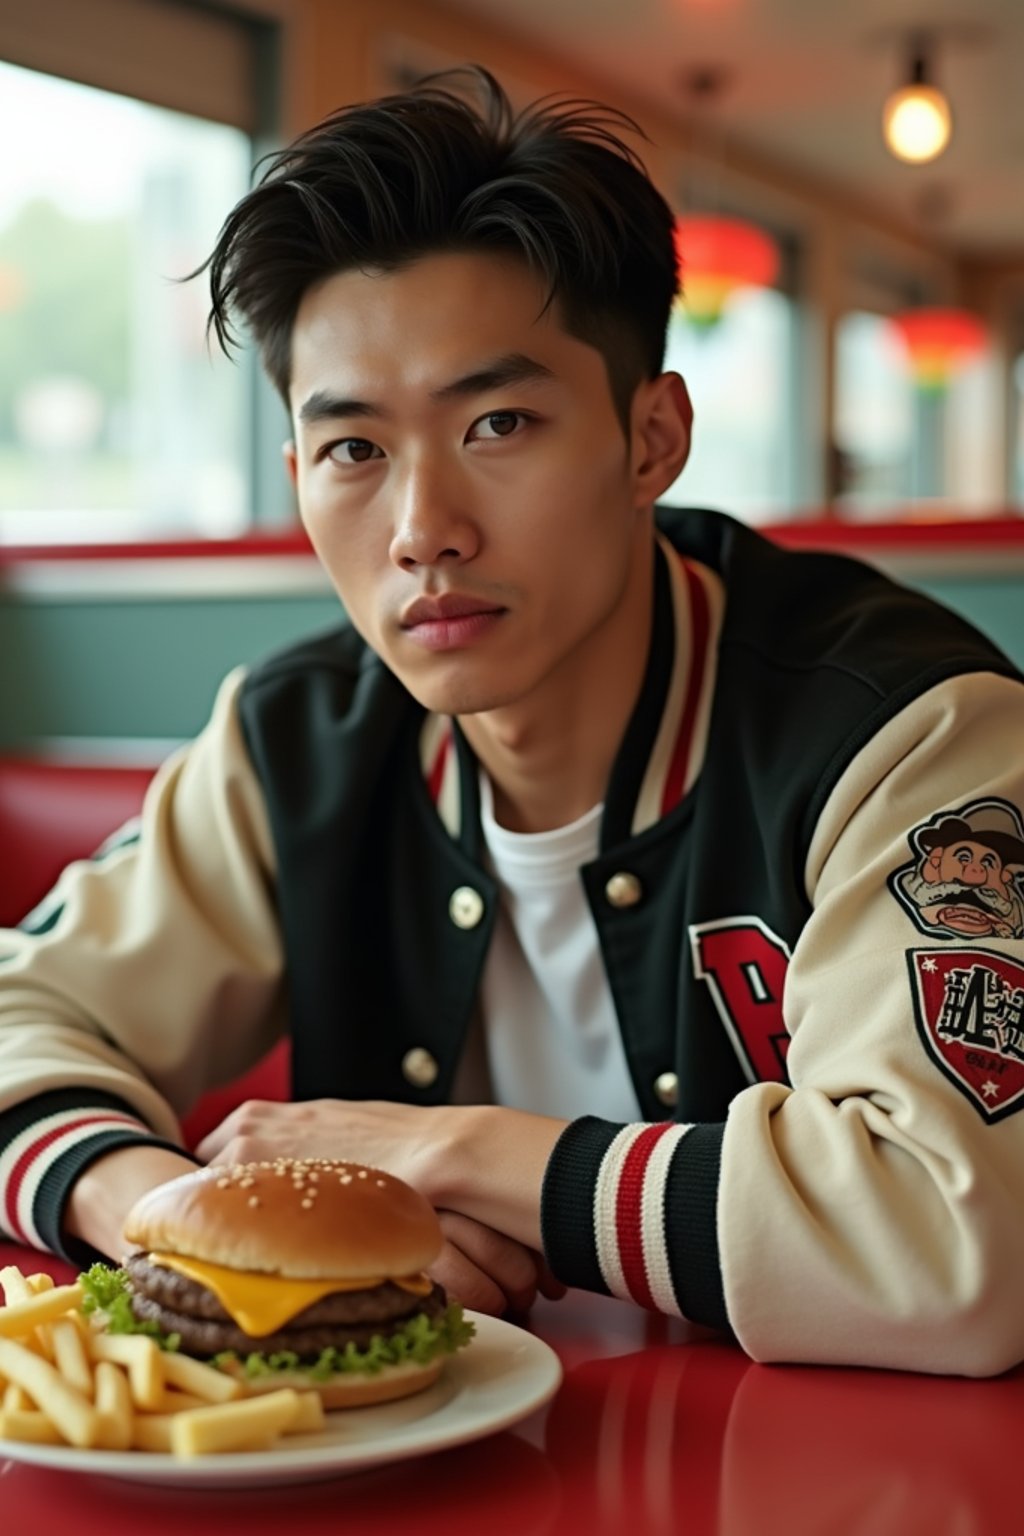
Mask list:
[{"label": "frilly green lettuce sticking out beneath the burger patties", "polygon": [[[94,1264],[80,1275],[80,1279],[84,1290],[81,1310],[89,1316],[97,1315],[109,1333],[146,1333],[160,1349],[181,1347],[180,1333],[164,1333],[157,1322],[144,1322],[135,1316],[126,1270]],[[462,1315],[459,1303],[453,1301],[439,1318],[431,1319],[421,1312],[387,1336],[375,1333],[365,1349],[356,1344],[345,1344],[341,1350],[325,1349],[315,1361],[299,1359],[292,1350],[278,1350],[273,1355],[258,1350],[235,1355],[232,1350],[224,1350],[210,1359],[210,1366],[224,1370],[241,1364],[247,1376],[306,1370],[313,1381],[327,1381],[341,1372],[373,1375],[385,1366],[401,1366],[405,1361],[427,1366],[438,1355],[454,1355],[470,1342],[474,1332],[473,1324]]]}]

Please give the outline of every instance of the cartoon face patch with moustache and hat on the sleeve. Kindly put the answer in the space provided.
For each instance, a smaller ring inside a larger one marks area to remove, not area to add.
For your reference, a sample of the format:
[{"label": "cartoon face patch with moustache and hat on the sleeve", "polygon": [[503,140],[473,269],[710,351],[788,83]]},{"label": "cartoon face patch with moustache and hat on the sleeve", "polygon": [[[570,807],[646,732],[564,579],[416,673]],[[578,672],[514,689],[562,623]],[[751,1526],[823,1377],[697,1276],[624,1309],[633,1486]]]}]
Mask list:
[{"label": "cartoon face patch with moustache and hat on the sleeve", "polygon": [[940,811],[889,889],[930,938],[1024,938],[1024,820],[1009,800]]}]

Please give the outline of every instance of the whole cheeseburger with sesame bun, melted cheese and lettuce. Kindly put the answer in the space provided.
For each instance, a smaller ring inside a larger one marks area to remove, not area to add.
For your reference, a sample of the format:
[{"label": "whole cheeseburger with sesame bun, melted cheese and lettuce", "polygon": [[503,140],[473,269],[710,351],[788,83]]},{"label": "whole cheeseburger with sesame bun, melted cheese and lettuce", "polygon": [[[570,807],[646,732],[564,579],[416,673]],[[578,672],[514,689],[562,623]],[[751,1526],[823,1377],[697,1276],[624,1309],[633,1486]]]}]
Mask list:
[{"label": "whole cheeseburger with sesame bun, melted cheese and lettuce", "polygon": [[325,1407],[402,1398],[471,1335],[425,1273],[442,1246],[433,1207],[379,1169],[204,1167],[143,1195],[124,1235],[135,1327],[253,1390],[312,1385]]}]

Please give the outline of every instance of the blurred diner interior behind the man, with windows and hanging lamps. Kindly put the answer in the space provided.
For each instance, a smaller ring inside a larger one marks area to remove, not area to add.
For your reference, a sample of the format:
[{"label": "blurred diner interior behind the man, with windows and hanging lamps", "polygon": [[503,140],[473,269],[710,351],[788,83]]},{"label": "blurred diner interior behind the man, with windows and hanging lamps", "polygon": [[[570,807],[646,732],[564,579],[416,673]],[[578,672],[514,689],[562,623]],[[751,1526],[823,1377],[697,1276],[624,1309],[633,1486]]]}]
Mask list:
[{"label": "blurred diner interior behind the man, with windows and hanging lamps", "polygon": [[207,255],[253,163],[468,60],[679,214],[668,499],[874,559],[1024,662],[1021,0],[0,0],[0,748],[158,756],[336,604]]}]

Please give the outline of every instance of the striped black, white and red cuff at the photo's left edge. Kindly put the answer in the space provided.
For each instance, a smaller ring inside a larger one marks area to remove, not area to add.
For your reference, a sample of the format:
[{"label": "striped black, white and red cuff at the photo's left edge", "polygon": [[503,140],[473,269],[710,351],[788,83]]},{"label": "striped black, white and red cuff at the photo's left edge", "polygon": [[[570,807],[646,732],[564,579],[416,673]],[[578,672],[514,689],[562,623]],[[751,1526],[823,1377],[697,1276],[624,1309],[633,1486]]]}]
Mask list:
[{"label": "striped black, white and red cuff at the photo's left edge", "polygon": [[[75,1180],[120,1146],[160,1146],[183,1152],[152,1134],[114,1094],[57,1089],[0,1115],[0,1230],[29,1247],[58,1253],[72,1264],[104,1255],[68,1238],[61,1220]],[[187,1155],[187,1154],[184,1154]],[[109,1255],[111,1258],[117,1255]]]}]

